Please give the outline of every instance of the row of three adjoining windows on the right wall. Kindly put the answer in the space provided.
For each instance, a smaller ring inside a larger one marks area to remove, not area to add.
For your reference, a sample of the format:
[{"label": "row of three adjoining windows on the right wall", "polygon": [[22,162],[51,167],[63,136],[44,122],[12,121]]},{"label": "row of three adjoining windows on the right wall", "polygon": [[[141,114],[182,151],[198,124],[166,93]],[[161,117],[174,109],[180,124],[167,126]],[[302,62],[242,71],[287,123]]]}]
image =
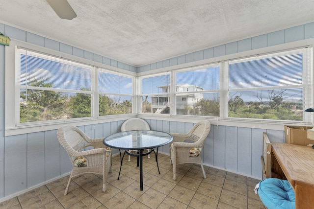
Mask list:
[{"label": "row of three adjoining windows on the right wall", "polygon": [[141,77],[142,113],[311,122],[311,59],[305,47]]}]

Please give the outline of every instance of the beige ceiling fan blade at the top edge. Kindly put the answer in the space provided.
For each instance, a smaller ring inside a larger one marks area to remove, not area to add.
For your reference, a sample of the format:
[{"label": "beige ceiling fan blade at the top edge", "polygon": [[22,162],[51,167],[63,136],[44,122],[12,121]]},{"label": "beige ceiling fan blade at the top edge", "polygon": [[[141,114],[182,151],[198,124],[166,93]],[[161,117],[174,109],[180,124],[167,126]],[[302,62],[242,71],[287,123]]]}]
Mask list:
[{"label": "beige ceiling fan blade at the top edge", "polygon": [[77,17],[77,14],[72,9],[67,0],[46,0],[52,7],[54,12],[61,18],[72,20]]}]

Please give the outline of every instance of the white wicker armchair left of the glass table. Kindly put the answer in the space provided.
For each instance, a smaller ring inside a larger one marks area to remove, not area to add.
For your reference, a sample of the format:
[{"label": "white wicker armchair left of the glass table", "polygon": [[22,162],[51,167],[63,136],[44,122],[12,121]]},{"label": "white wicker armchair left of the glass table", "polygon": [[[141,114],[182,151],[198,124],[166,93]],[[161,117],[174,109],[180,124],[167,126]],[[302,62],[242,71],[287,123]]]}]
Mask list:
[{"label": "white wicker armchair left of the glass table", "polygon": [[[111,148],[103,144],[103,138],[91,139],[80,129],[71,125],[60,127],[57,137],[73,165],[64,194],[68,193],[72,178],[85,173],[102,174],[103,191],[105,191],[107,172],[111,173],[112,154]],[[94,149],[81,151],[86,147],[94,147]]]}]

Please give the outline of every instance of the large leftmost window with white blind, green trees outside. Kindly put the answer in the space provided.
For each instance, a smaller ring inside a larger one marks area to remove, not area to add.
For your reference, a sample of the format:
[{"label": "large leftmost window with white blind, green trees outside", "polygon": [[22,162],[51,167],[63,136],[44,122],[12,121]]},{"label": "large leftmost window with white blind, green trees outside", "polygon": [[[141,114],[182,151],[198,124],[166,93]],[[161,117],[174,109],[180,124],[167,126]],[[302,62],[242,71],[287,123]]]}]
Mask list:
[{"label": "large leftmost window with white blind, green trees outside", "polygon": [[91,117],[91,66],[18,49],[19,123]]}]

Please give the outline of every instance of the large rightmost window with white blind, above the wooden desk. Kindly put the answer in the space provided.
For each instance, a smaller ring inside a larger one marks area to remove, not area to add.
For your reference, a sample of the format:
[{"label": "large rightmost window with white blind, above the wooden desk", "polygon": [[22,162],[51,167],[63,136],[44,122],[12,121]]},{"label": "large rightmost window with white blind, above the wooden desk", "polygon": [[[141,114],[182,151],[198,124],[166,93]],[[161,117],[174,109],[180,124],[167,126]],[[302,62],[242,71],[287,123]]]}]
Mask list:
[{"label": "large rightmost window with white blind, above the wooden desk", "polygon": [[304,48],[229,62],[228,117],[303,121],[308,60]]}]

